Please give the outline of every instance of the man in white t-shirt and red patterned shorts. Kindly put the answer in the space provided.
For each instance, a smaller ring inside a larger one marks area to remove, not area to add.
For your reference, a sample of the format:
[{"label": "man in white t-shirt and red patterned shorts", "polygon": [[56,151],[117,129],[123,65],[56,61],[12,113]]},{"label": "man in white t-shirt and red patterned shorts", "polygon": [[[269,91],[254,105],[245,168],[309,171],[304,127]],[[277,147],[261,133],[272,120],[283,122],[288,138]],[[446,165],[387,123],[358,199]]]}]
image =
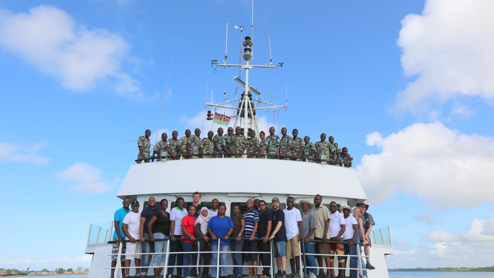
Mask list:
[{"label": "man in white t-shirt and red patterned shorts", "polygon": [[[337,210],[338,205],[335,201],[329,203],[329,254],[334,254],[338,257],[338,277],[343,277],[345,272],[345,249],[343,243],[336,243],[335,241],[343,241],[343,233],[345,232],[345,218]],[[334,266],[334,257],[329,259],[329,268]],[[331,269],[331,275],[336,277],[334,269]]]}]

